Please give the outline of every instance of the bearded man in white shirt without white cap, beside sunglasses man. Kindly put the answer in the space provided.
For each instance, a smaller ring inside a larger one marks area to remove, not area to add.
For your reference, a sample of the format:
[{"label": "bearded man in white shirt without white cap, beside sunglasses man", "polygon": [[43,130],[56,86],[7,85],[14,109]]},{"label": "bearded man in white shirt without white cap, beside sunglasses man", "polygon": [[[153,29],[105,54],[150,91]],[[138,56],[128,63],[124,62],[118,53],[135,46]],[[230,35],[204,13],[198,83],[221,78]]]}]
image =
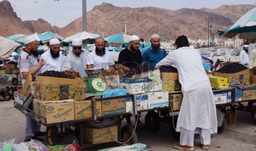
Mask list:
[{"label": "bearded man in white shirt without white cap, beside sunglasses man", "polygon": [[111,55],[105,49],[105,40],[102,37],[97,37],[95,40],[95,50],[88,54],[87,57],[88,69],[106,69],[109,66],[115,65]]}]

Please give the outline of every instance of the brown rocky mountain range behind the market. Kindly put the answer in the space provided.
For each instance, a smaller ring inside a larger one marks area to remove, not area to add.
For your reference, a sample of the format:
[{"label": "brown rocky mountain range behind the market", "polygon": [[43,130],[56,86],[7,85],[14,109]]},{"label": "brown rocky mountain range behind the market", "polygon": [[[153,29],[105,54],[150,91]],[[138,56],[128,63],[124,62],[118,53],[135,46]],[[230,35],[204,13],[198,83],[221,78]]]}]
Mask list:
[{"label": "brown rocky mountain range behind the market", "polygon": [[[87,13],[88,32],[102,34],[105,37],[124,32],[123,21],[127,21],[127,34],[137,34],[148,40],[153,33],[160,34],[166,40],[176,39],[186,34],[192,39],[208,37],[208,22],[211,32],[217,36],[217,30],[231,27],[254,5],[222,5],[216,9],[168,10],[156,7],[129,8],[116,7],[102,3]],[[13,11],[8,1],[0,2],[0,35],[7,37],[15,33],[29,34],[45,31],[55,32],[63,37],[82,31],[82,17],[75,19],[65,27],[51,26],[43,19],[22,21]]]}]

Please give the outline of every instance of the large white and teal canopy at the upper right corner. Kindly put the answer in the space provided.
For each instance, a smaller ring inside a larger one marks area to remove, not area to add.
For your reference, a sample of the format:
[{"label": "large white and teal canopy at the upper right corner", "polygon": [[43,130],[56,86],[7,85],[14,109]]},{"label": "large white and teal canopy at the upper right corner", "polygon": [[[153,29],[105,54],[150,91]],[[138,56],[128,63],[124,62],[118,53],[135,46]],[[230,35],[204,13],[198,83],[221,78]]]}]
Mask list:
[{"label": "large white and teal canopy at the upper right corner", "polygon": [[232,38],[239,33],[241,39],[255,39],[256,37],[256,8],[249,10],[233,26],[226,31],[218,31],[219,36],[223,35]]}]

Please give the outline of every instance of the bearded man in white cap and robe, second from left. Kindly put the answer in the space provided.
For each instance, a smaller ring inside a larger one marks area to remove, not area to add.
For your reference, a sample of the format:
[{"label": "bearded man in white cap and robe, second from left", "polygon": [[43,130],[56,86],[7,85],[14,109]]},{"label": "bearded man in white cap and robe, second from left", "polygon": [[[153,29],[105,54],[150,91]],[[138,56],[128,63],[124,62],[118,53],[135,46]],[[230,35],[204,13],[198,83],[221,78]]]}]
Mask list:
[{"label": "bearded man in white cap and robe, second from left", "polygon": [[41,68],[41,71],[62,71],[64,59],[62,51],[60,51],[61,43],[57,38],[52,38],[49,47],[50,49],[40,56],[40,59],[45,60],[45,65]]}]

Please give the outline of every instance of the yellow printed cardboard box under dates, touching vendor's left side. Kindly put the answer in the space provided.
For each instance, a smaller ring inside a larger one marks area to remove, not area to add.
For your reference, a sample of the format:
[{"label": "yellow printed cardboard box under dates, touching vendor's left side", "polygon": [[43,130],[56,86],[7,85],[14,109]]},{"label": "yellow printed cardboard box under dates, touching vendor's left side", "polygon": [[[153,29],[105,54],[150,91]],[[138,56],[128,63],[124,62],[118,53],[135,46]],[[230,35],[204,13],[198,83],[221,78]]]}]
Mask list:
[{"label": "yellow printed cardboard box under dates, touching vendor's left side", "polygon": [[181,91],[181,83],[179,83],[178,73],[161,72],[162,89],[168,92]]}]

